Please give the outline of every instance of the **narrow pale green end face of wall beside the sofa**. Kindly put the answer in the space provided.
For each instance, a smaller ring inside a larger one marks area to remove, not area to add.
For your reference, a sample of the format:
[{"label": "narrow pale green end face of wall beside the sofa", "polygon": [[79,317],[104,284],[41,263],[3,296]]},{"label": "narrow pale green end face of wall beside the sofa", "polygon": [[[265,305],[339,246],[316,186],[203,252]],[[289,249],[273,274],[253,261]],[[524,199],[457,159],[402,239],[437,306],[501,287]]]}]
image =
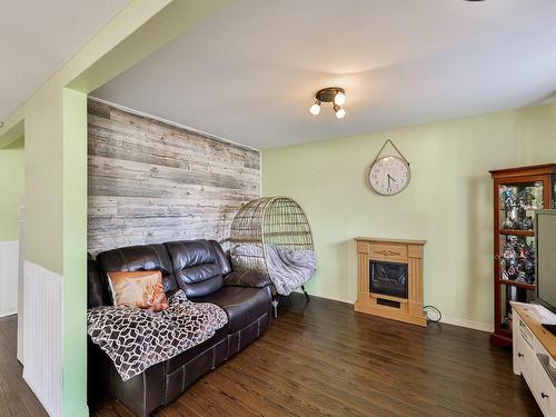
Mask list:
[{"label": "narrow pale green end face of wall beside the sofa", "polygon": [[87,409],[87,95],[63,89],[62,415]]}]

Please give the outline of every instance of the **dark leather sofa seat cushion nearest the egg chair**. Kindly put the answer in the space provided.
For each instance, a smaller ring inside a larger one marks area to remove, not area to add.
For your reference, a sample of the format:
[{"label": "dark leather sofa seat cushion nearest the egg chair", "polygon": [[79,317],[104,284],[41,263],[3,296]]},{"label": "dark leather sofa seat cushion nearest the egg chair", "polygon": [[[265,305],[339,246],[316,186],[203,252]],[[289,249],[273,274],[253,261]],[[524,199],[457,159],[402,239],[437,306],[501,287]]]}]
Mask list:
[{"label": "dark leather sofa seat cushion nearest the egg chair", "polygon": [[228,331],[241,330],[259,317],[268,314],[270,296],[268,288],[225,286],[217,292],[195,299],[196,302],[212,302],[228,315]]}]

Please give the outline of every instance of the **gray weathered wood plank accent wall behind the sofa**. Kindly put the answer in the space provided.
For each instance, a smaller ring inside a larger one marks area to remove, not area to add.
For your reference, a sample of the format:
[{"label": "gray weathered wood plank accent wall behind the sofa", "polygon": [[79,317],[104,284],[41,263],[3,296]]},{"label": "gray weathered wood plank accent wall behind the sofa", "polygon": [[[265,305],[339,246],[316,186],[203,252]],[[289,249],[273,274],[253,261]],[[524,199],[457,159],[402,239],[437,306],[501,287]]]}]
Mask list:
[{"label": "gray weathered wood plank accent wall behind the sofa", "polygon": [[260,197],[260,153],[89,99],[89,251],[180,239],[228,247]]}]

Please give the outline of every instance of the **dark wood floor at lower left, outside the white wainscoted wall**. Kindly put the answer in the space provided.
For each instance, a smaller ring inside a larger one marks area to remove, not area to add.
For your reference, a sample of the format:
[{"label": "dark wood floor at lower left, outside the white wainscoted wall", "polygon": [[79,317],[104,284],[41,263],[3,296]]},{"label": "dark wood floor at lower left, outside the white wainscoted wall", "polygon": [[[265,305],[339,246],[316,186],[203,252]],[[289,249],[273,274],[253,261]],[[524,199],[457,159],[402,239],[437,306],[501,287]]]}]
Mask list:
[{"label": "dark wood floor at lower left, outside the white wainscoted wall", "polygon": [[17,342],[18,316],[0,318],[0,417],[48,417],[21,376]]}]

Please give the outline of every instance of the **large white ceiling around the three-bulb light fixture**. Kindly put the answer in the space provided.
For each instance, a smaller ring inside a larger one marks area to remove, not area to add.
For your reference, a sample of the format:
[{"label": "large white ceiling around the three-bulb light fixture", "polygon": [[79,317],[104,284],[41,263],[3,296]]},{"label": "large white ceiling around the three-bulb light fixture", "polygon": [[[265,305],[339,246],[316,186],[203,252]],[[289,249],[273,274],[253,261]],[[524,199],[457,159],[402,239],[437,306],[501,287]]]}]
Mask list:
[{"label": "large white ceiling around the three-bulb light fixture", "polygon": [[[93,96],[265,149],[530,106],[554,0],[235,0]],[[346,89],[347,116],[308,112]]]}]

